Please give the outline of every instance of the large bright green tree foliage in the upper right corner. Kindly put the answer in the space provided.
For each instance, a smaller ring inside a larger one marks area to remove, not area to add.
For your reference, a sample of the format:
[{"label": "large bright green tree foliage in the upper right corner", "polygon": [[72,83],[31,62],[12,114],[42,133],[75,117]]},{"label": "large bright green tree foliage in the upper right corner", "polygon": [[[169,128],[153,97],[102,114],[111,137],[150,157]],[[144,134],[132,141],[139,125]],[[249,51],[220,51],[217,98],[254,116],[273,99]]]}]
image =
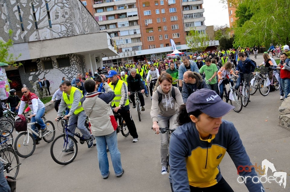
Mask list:
[{"label": "large bright green tree foliage in the upper right corner", "polygon": [[[243,0],[238,5],[237,12],[240,16],[245,14],[246,17],[241,17],[241,20],[238,18],[235,23],[236,47],[254,45],[269,47],[271,43],[289,44],[290,1]],[[251,14],[253,15],[249,19]]]}]

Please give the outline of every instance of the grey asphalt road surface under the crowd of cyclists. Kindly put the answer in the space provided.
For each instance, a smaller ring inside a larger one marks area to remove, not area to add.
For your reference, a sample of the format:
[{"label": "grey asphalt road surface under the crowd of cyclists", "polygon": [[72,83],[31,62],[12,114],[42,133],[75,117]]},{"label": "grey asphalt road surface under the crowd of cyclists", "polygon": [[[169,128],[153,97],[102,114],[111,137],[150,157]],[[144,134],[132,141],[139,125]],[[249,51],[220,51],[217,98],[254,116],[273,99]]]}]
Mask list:
[{"label": "grey asphalt road surface under the crowd of cyclists", "polygon": [[[262,63],[261,55],[258,55],[258,63]],[[278,108],[282,102],[279,100],[279,92],[270,92],[264,97],[257,91],[250,100],[240,113],[232,110],[224,119],[234,122],[253,164],[261,165],[262,160],[268,159],[278,172],[287,172],[289,175],[290,132],[278,126]],[[69,165],[62,166],[51,158],[50,144],[41,141],[32,156],[26,159],[19,157],[22,165],[17,177],[17,191],[170,191],[168,175],[160,174],[160,140],[151,130],[150,108],[151,100],[148,97],[145,98],[145,111],[141,113],[141,122],[138,121],[135,109],[131,108],[139,135],[137,143],[132,143],[130,135],[125,138],[118,134],[118,147],[125,170],[121,178],[113,174],[109,157],[111,174],[108,179],[102,179],[96,147],[88,149],[86,144],[78,143],[76,159]],[[46,117],[53,121],[56,117],[55,110],[48,112]],[[54,124],[57,129],[56,122]],[[56,136],[59,134],[60,131],[57,130]],[[13,135],[17,136],[15,132]],[[244,184],[237,182],[237,169],[228,155],[224,157],[220,168],[234,191],[247,191]],[[290,191],[288,185],[283,189],[274,181],[272,184],[264,184],[264,187],[266,191]]]}]

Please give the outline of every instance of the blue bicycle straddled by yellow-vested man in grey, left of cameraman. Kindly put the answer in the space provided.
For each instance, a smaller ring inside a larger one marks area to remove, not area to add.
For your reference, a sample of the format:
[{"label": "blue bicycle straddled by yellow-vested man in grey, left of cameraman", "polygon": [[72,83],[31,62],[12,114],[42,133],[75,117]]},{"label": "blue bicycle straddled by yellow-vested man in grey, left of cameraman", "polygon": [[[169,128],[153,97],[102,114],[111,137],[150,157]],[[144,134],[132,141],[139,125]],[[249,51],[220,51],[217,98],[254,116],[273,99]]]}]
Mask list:
[{"label": "blue bicycle straddled by yellow-vested man in grey, left of cameraman", "polygon": [[[68,120],[64,119],[63,116],[57,118],[57,121],[63,121],[64,130],[61,135],[55,138],[55,140],[52,142],[50,146],[50,155],[54,162],[60,164],[60,165],[67,165],[71,163],[78,153],[78,141],[76,139],[69,135],[69,133],[72,133],[68,127],[77,124],[71,123],[67,124]],[[79,138],[80,144],[84,144],[86,142],[86,139],[83,135],[80,135],[80,133],[72,133],[77,138]],[[95,140],[95,138],[94,138]],[[69,146],[69,142],[72,142],[73,146]]]}]

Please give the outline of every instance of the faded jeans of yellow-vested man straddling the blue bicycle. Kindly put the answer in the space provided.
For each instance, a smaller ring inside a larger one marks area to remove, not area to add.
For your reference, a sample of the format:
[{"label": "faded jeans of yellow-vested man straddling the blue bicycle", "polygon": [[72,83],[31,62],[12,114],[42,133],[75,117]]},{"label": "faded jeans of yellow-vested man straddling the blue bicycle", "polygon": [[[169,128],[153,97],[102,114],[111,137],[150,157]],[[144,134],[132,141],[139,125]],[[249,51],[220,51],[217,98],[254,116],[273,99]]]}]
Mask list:
[{"label": "faded jeans of yellow-vested man straddling the blue bicycle", "polygon": [[[82,111],[77,115],[73,114],[72,116],[69,117],[68,124],[77,122],[77,124],[69,126],[68,129],[71,131],[71,133],[69,132],[69,135],[74,137],[73,134],[75,133],[76,126],[78,126],[78,129],[81,131],[81,133],[85,137],[85,139],[89,139],[91,137],[90,132],[85,127],[85,118],[86,117],[87,117],[87,115],[85,114],[85,111]],[[73,147],[73,142],[71,141],[71,139],[69,139],[69,147]]]}]

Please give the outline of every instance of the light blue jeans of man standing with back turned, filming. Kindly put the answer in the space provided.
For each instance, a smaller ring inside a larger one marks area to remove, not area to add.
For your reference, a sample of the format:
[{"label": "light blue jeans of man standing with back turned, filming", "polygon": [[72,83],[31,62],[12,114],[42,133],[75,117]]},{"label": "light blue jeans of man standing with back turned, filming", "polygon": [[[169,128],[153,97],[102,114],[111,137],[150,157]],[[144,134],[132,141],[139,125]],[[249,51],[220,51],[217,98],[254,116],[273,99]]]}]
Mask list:
[{"label": "light blue jeans of man standing with back turned, filming", "polygon": [[111,160],[116,176],[122,175],[121,153],[118,150],[116,131],[109,135],[95,136],[98,150],[99,169],[103,178],[109,175],[109,161],[107,155],[107,145],[111,155]]}]

